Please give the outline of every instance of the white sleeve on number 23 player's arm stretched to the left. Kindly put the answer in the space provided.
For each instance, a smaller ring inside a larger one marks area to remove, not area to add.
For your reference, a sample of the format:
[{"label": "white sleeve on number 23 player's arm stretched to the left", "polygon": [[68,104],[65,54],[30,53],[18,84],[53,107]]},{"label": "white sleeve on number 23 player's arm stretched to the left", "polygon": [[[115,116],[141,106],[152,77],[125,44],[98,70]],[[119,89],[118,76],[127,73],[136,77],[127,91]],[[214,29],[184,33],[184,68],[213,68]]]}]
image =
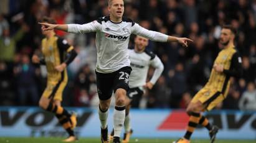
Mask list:
[{"label": "white sleeve on number 23 player's arm stretched to the left", "polygon": [[88,32],[96,32],[100,30],[101,24],[97,21],[93,21],[87,24],[67,24],[68,29],[67,32],[70,33],[88,33]]}]

